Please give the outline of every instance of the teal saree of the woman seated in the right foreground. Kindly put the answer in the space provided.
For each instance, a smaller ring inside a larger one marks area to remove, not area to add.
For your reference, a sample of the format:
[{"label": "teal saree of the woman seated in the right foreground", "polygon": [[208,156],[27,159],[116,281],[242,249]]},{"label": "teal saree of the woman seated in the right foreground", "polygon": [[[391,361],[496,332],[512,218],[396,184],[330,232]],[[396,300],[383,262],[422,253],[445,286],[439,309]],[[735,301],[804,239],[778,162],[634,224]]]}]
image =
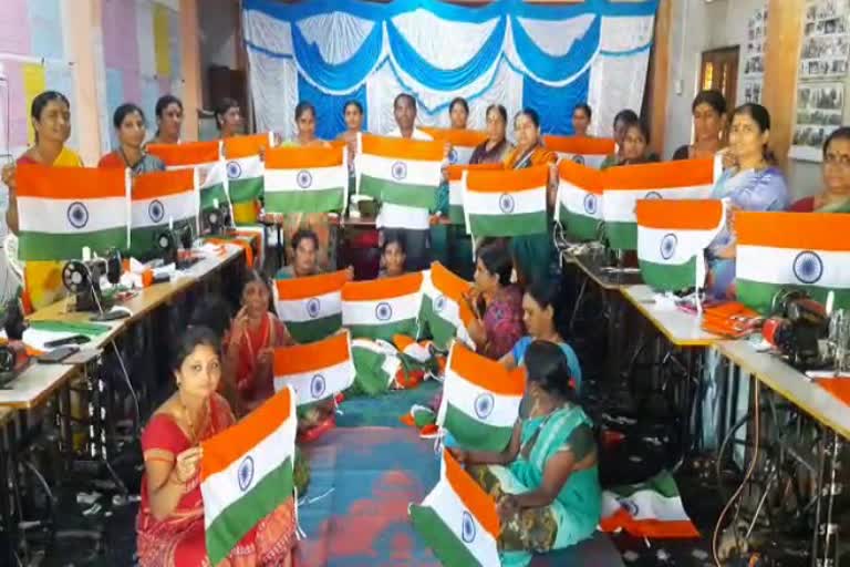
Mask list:
[{"label": "teal saree of the woman seated in the right foreground", "polygon": [[[581,425],[592,427],[590,419],[577,405],[525,420],[516,461],[507,466],[473,466],[469,473],[496,501],[505,494],[535,491],[542,484],[548,461],[570,449],[572,434]],[[581,458],[577,456],[577,460]],[[498,538],[501,565],[525,566],[531,561],[531,553],[563,549],[589,539],[601,514],[598,465],[573,471],[551,504],[525,508],[502,520]]]}]

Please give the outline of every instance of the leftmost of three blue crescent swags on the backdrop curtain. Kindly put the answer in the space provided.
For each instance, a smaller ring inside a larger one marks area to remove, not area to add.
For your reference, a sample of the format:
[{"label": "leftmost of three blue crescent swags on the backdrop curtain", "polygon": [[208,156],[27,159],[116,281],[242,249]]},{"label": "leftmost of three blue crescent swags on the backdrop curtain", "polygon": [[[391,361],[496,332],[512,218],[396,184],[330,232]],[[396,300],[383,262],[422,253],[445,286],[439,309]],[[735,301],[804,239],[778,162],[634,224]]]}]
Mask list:
[{"label": "leftmost of three blue crescent swags on the backdrop curtain", "polygon": [[307,41],[297,24],[292,25],[292,49],[302,70],[310,79],[329,91],[351,91],[366,80],[381,56],[382,25],[375,23],[360,50],[344,63],[334,65],[322,59],[319,48]]}]

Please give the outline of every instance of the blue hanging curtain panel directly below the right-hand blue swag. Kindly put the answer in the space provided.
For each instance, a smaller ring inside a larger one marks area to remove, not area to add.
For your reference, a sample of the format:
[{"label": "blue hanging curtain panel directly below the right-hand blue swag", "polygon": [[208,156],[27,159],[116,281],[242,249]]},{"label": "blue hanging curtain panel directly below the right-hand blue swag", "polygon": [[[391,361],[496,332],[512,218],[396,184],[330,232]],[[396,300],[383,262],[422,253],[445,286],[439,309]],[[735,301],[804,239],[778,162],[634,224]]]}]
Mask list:
[{"label": "blue hanging curtain panel directly below the right-hand blue swag", "polygon": [[522,82],[522,102],[540,115],[543,134],[572,135],[572,109],[587,102],[590,87],[590,69],[567,86],[547,86],[532,79]]}]

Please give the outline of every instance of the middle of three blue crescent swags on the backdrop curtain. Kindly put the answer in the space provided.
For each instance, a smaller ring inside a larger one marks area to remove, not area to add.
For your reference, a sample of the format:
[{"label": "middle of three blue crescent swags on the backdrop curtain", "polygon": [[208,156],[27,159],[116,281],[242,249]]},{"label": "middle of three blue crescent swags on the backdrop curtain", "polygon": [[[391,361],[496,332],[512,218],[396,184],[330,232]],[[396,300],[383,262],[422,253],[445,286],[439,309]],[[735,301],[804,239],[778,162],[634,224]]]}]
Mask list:
[{"label": "middle of three blue crescent swags on the backdrop curtain", "polygon": [[386,23],[386,35],[396,63],[414,80],[436,91],[457,91],[478,79],[498,61],[505,43],[506,22],[505,18],[500,18],[481,49],[463,66],[450,70],[432,65],[413,49],[392,22]]}]

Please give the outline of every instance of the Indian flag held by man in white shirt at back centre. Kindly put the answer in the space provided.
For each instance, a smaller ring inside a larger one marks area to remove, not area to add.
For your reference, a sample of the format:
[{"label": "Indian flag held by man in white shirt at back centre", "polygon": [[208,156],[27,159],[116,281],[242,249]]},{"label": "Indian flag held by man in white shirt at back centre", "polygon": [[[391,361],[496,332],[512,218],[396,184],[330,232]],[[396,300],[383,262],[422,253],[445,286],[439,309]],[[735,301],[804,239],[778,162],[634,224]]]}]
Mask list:
[{"label": "Indian flag held by man in white shirt at back centre", "polygon": [[357,193],[383,203],[432,208],[445,143],[357,134]]}]

